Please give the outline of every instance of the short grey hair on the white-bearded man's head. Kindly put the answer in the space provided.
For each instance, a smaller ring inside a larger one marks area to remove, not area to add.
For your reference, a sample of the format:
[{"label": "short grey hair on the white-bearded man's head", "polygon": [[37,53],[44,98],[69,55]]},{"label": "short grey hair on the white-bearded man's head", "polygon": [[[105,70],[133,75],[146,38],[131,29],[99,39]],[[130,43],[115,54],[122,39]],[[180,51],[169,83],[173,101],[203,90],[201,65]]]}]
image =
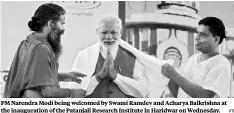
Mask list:
[{"label": "short grey hair on the white-bearded man's head", "polygon": [[99,19],[98,22],[98,28],[104,23],[104,22],[111,22],[113,21],[114,24],[120,28],[122,28],[122,20],[113,14],[107,14],[107,15],[103,15],[101,16],[101,18]]}]

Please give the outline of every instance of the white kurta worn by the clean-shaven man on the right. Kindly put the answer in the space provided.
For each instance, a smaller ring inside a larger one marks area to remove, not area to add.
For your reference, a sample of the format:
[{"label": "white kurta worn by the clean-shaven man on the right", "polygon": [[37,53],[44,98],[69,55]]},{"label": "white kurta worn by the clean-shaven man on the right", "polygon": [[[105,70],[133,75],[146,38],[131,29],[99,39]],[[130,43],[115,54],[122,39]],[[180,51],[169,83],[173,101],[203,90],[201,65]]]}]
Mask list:
[{"label": "white kurta worn by the clean-shaven man on the right", "polygon": [[[230,96],[231,88],[231,65],[221,54],[216,55],[202,62],[197,62],[195,54],[182,66],[181,76],[188,81],[215,92],[216,97]],[[178,91],[178,98],[191,98],[181,88]]]}]

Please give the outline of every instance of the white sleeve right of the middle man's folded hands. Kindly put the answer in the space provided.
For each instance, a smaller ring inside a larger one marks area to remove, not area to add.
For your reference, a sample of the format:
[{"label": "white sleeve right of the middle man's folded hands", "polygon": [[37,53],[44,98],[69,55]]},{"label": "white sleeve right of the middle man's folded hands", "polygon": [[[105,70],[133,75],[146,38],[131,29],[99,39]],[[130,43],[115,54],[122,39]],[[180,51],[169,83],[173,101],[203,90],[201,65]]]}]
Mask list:
[{"label": "white sleeve right of the middle man's folded hands", "polygon": [[125,94],[133,97],[146,97],[149,92],[144,65],[137,59],[134,67],[133,79],[117,74],[114,83],[116,83]]}]

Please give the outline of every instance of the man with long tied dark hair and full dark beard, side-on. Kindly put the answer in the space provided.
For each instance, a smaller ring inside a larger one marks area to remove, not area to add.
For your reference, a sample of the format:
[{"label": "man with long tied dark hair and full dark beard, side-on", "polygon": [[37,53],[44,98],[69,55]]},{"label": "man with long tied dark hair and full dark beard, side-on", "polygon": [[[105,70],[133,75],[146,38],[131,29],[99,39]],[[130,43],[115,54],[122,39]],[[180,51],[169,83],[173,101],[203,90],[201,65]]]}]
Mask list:
[{"label": "man with long tied dark hair and full dark beard, side-on", "polygon": [[33,31],[23,40],[13,59],[5,86],[6,98],[84,97],[83,89],[60,88],[59,81],[81,82],[78,72],[58,73],[61,35],[66,11],[59,5],[46,3],[35,12],[29,28]]}]

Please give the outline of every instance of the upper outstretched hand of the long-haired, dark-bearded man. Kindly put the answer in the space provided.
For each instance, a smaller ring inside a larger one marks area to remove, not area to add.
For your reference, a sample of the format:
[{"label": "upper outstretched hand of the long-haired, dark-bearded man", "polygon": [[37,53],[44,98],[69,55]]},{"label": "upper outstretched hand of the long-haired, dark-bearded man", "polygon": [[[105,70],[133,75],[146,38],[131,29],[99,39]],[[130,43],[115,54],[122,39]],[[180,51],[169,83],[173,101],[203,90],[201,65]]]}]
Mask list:
[{"label": "upper outstretched hand of the long-haired, dark-bearded man", "polygon": [[78,77],[86,77],[87,75],[79,73],[79,72],[69,72],[69,73],[59,73],[59,79],[60,81],[66,81],[66,82],[77,82],[81,83],[81,79]]}]

